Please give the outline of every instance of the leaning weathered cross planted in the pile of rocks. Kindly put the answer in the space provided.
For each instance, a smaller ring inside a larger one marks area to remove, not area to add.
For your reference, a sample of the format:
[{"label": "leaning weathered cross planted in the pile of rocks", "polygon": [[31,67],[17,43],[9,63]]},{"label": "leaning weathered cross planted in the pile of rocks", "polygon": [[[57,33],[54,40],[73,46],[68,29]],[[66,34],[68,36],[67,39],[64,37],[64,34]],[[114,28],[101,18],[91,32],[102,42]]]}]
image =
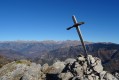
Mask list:
[{"label": "leaning weathered cross planted in the pile of rocks", "polygon": [[85,54],[86,54],[86,56],[87,56],[87,55],[88,55],[88,54],[87,54],[87,50],[86,50],[86,47],[85,47],[85,44],[84,44],[84,41],[83,41],[83,38],[82,38],[82,34],[81,34],[81,31],[80,31],[80,28],[79,28],[79,26],[82,25],[82,24],[84,24],[84,22],[77,22],[75,16],[72,16],[72,19],[73,19],[73,21],[74,21],[74,25],[71,26],[71,27],[69,27],[69,28],[67,28],[67,30],[70,30],[70,29],[73,28],[73,27],[76,28],[77,33],[78,33],[78,35],[79,35],[79,38],[80,38],[80,40],[81,40],[81,44],[82,44],[82,46],[83,46],[84,52],[85,52]]}]

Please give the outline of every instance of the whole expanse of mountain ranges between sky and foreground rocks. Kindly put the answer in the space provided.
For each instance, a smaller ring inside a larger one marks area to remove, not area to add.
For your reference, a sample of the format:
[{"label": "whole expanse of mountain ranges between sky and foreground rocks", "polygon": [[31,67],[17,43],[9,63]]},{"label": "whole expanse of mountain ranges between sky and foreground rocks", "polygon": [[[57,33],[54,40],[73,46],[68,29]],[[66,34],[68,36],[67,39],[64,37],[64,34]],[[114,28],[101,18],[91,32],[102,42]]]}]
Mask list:
[{"label": "whole expanse of mountain ranges between sky and foreground rocks", "polygon": [[[88,54],[99,57],[108,71],[118,71],[119,44],[85,42]],[[28,59],[40,64],[52,64],[83,54],[80,41],[5,41],[0,42],[2,60]],[[1,60],[1,61],[2,61]],[[113,66],[113,68],[112,68]]]}]

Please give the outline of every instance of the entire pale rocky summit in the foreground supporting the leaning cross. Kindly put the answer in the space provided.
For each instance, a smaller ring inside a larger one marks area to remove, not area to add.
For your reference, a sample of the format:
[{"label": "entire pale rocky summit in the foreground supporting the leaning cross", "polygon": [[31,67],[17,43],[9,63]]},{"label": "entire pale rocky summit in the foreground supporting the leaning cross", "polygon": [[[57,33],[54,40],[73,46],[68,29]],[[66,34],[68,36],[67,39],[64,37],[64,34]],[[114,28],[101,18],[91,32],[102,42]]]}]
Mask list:
[{"label": "entire pale rocky summit in the foreground supporting the leaning cross", "polygon": [[105,71],[97,57],[78,55],[51,66],[14,61],[0,68],[0,80],[119,80],[119,74]]}]

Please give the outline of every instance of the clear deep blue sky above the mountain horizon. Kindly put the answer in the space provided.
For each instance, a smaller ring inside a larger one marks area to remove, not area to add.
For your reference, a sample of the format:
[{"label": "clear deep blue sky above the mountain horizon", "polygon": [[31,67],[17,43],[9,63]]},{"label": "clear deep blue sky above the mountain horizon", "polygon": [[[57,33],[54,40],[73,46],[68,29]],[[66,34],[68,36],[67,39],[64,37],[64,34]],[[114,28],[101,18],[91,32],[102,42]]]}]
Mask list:
[{"label": "clear deep blue sky above the mountain horizon", "polygon": [[0,0],[0,41],[79,40],[119,43],[119,0]]}]

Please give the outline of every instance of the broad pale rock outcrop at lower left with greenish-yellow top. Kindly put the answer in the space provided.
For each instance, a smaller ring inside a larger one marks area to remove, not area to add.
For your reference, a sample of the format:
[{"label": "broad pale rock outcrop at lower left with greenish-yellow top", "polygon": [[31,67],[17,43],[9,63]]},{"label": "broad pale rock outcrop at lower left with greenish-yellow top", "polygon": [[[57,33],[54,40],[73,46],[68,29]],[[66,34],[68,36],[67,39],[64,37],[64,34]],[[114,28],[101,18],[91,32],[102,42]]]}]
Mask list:
[{"label": "broad pale rock outcrop at lower left with greenish-yellow top", "polygon": [[41,66],[26,60],[14,61],[0,69],[0,80],[38,80]]}]

